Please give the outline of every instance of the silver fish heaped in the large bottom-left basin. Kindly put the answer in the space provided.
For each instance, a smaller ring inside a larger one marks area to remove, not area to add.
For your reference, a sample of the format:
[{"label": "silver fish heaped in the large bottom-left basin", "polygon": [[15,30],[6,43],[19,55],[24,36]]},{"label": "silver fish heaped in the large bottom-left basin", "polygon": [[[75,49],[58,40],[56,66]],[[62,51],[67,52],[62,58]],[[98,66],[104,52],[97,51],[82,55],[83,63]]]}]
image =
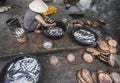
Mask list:
[{"label": "silver fish heaped in the large bottom-left basin", "polygon": [[5,83],[37,83],[41,68],[34,58],[24,57],[12,63],[5,76]]}]

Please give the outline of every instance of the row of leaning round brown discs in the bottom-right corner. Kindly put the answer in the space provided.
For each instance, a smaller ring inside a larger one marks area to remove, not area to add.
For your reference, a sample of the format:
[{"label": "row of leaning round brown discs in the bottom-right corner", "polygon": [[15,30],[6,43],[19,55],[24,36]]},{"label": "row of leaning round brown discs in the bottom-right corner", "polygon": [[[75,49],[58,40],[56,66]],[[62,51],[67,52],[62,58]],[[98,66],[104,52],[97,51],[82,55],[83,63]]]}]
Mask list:
[{"label": "row of leaning round brown discs in the bottom-right corner", "polygon": [[89,71],[81,69],[77,71],[78,83],[120,83],[120,74],[118,72],[106,72],[103,70]]}]

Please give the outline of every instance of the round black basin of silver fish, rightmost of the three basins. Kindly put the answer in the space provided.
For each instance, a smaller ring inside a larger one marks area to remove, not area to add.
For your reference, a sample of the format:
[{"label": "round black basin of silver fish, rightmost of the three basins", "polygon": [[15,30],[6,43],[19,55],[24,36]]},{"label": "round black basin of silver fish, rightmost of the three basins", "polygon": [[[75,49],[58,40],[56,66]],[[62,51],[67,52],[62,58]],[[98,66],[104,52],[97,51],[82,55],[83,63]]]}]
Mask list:
[{"label": "round black basin of silver fish, rightmost of the three basins", "polygon": [[78,43],[84,45],[92,45],[98,39],[97,34],[88,28],[74,28],[72,30],[72,36]]}]

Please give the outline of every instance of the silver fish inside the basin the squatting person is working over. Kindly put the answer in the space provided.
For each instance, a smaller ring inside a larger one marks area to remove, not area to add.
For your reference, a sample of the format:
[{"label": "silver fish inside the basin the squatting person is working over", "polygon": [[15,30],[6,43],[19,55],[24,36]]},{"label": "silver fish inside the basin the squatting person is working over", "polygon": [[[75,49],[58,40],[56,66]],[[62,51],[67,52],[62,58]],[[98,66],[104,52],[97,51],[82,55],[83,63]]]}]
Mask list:
[{"label": "silver fish inside the basin the squatting person is working over", "polygon": [[46,30],[44,30],[44,33],[52,37],[57,37],[62,36],[65,32],[62,28],[56,26],[47,28]]}]

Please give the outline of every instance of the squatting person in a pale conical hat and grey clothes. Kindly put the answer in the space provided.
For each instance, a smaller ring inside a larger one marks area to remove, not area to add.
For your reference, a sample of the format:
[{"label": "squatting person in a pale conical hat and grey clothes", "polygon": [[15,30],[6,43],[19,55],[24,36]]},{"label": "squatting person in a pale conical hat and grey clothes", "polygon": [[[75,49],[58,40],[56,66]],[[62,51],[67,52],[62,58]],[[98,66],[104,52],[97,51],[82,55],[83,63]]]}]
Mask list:
[{"label": "squatting person in a pale conical hat and grey clothes", "polygon": [[51,27],[56,23],[46,23],[42,15],[48,10],[48,6],[42,0],[34,0],[29,4],[29,9],[24,16],[24,28],[28,32],[41,33],[40,26]]}]

